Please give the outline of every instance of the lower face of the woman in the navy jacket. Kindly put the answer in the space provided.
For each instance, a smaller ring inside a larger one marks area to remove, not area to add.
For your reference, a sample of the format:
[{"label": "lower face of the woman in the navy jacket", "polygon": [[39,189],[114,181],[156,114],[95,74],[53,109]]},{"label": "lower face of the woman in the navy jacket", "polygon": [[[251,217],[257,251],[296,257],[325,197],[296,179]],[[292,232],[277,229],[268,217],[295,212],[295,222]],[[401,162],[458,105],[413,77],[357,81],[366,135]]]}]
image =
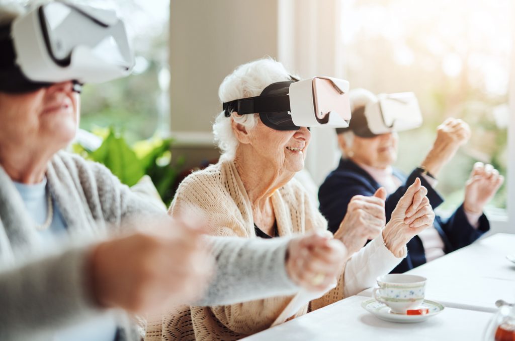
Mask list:
[{"label": "lower face of the woman in the navy jacket", "polygon": [[397,133],[377,135],[364,138],[354,136],[351,151],[352,159],[375,168],[386,168],[397,160]]}]

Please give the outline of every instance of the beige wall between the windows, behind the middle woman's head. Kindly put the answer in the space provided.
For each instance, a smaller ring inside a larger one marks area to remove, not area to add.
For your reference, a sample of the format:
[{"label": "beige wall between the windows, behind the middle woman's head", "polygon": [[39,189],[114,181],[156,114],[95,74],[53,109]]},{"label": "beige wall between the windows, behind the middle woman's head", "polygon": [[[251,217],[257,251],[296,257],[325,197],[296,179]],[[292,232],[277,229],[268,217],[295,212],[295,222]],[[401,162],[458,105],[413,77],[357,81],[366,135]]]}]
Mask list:
[{"label": "beige wall between the windows, behind the middle woman's head", "polygon": [[277,2],[170,1],[170,128],[178,143],[211,143],[224,77],[244,62],[277,57]]}]

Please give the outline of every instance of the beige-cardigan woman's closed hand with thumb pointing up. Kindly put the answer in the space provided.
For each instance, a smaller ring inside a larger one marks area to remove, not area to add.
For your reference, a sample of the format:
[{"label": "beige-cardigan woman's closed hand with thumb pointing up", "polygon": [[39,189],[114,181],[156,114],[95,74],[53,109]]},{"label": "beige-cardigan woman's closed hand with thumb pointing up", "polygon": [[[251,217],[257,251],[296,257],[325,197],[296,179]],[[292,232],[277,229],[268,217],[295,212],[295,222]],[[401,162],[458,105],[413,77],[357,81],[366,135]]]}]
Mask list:
[{"label": "beige-cardigan woman's closed hand with thumb pointing up", "polygon": [[386,190],[381,187],[372,197],[354,196],[347,214],[334,237],[341,240],[349,254],[361,249],[368,239],[379,236],[386,223]]}]

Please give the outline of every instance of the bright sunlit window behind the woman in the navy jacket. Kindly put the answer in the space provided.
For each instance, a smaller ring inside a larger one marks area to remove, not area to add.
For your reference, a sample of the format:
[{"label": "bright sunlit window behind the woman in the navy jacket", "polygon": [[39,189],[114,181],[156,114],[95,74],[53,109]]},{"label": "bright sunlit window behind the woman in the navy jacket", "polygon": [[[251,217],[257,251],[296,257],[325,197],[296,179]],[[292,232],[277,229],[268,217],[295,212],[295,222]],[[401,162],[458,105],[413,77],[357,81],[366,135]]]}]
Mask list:
[{"label": "bright sunlit window behind the woman in the navy jacket", "polygon": [[[508,87],[515,9],[511,0],[342,3],[344,69],[353,88],[375,93],[414,91],[424,124],[400,134],[397,166],[410,172],[420,164],[448,117],[468,122],[469,143],[442,170],[437,189],[443,209],[464,199],[475,161],[506,175]],[[504,212],[506,181],[489,212]]]}]

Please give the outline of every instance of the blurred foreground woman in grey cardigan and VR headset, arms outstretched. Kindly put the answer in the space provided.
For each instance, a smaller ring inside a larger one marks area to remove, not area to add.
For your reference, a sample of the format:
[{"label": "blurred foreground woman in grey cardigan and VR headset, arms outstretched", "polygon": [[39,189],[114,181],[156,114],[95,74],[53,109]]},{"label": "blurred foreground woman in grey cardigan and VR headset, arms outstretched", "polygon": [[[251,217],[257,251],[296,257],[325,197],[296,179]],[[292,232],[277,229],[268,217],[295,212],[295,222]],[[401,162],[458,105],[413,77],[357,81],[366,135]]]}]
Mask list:
[{"label": "blurred foreground woman in grey cardigan and VR headset, arms outstretched", "polygon": [[142,313],[192,301],[210,278],[200,304],[318,290],[311,268],[331,276],[341,267],[345,248],[322,235],[202,237],[107,168],[61,151],[76,133],[81,83],[127,75],[127,47],[123,22],[109,11],[0,6],[2,340],[136,340],[134,324],[112,308]]}]

